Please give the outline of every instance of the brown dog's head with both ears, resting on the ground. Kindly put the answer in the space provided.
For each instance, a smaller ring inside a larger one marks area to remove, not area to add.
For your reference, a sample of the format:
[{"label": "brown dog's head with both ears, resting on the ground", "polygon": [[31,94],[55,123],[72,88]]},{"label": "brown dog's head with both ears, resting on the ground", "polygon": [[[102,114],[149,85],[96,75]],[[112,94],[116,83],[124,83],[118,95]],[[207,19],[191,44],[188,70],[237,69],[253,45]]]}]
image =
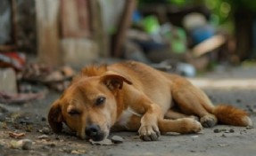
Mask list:
[{"label": "brown dog's head with both ears, resting on the ground", "polygon": [[85,77],[73,82],[48,113],[51,128],[61,132],[64,122],[81,138],[103,140],[116,121],[117,98],[124,82],[131,84],[117,74]]}]

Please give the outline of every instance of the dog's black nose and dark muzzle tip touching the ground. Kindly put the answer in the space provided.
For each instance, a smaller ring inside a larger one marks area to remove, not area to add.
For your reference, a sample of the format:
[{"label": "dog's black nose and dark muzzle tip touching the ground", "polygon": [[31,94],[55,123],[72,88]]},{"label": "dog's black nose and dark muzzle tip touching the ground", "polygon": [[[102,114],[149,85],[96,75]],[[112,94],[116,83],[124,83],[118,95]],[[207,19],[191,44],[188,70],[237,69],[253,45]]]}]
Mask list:
[{"label": "dog's black nose and dark muzzle tip touching the ground", "polygon": [[99,125],[91,124],[86,127],[86,135],[94,141],[102,141],[105,134]]}]

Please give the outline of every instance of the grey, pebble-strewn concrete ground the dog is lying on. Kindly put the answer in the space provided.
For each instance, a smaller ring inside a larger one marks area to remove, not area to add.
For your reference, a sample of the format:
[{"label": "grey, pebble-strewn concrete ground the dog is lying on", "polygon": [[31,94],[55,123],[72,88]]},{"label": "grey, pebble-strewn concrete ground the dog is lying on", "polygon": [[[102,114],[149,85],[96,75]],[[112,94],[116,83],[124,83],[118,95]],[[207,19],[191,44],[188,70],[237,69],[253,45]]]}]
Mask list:
[{"label": "grey, pebble-strewn concrete ground the dog is lying on", "polygon": [[[216,105],[225,103],[251,113],[256,123],[256,66],[221,69],[190,79],[205,90]],[[61,135],[49,131],[45,121],[49,105],[59,94],[51,92],[43,100],[21,106],[21,111],[0,113],[0,156],[2,155],[172,155],[172,156],[251,156],[256,153],[256,129],[219,125],[203,129],[199,134],[161,136],[160,141],[143,142],[136,133],[120,132],[122,144],[92,145],[80,140],[69,129]],[[18,107],[18,105],[11,105]],[[219,133],[214,130],[219,129]],[[10,131],[25,132],[22,138],[12,138]],[[38,136],[46,135],[43,138]],[[13,149],[11,142],[29,138],[30,150]]]}]

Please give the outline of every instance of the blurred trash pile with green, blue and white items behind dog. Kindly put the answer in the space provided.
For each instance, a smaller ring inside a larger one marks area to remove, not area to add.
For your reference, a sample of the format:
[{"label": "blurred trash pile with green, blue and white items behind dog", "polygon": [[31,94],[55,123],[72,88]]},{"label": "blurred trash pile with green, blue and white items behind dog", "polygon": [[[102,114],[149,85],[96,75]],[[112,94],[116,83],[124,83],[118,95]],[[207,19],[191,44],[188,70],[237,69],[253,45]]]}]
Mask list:
[{"label": "blurred trash pile with green, blue and white items behind dog", "polygon": [[[219,59],[212,52],[227,43],[227,36],[213,27],[203,14],[191,12],[182,19],[182,27],[160,23],[154,14],[133,14],[124,45],[123,58],[153,64],[159,69],[193,77]],[[168,66],[171,66],[170,68]]]}]

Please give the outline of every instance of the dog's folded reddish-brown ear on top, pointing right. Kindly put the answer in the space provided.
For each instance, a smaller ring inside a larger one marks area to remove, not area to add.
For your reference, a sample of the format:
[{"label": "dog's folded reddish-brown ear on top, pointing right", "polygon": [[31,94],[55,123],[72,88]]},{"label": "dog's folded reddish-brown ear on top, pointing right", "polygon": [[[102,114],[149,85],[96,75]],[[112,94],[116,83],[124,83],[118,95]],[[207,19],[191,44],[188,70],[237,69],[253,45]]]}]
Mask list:
[{"label": "dog's folded reddish-brown ear on top, pointing right", "polygon": [[101,81],[110,89],[110,90],[121,90],[123,83],[132,84],[128,79],[120,76],[118,74],[106,74],[101,77]]}]

